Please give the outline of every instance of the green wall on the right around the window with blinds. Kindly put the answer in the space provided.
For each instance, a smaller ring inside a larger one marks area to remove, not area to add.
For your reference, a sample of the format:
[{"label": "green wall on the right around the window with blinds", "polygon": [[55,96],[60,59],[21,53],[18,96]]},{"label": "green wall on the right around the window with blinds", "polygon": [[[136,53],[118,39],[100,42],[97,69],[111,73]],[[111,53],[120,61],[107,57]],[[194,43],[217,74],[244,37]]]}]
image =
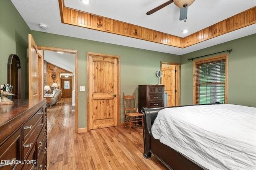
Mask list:
[{"label": "green wall on the right around the window with blinds", "polygon": [[181,56],[180,104],[193,104],[193,61],[199,57],[233,49],[228,55],[228,103],[256,107],[256,34]]}]

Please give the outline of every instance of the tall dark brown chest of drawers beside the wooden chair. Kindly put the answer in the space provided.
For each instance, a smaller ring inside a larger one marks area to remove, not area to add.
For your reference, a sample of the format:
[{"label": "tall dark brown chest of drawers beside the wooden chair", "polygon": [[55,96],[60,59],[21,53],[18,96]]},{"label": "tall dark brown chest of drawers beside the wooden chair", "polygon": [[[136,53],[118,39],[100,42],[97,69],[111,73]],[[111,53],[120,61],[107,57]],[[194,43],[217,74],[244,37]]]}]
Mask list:
[{"label": "tall dark brown chest of drawers beside the wooden chair", "polygon": [[139,112],[142,107],[164,107],[164,85],[139,85],[138,95]]}]

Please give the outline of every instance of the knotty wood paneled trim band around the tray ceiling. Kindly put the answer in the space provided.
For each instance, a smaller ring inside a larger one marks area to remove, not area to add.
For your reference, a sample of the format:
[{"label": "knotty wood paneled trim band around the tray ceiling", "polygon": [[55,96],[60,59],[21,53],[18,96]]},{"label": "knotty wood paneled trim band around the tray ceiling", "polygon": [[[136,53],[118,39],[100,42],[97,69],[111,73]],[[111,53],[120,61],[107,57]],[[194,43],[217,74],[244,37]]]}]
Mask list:
[{"label": "knotty wood paneled trim band around the tray ceiling", "polygon": [[185,48],[196,43],[229,33],[231,31],[256,23],[256,6],[236,14],[226,20],[206,27],[187,37],[177,37],[160,31],[155,31],[138,25],[113,20],[110,18],[89,14],[64,6],[64,0],[59,0],[62,23],[124,35],[155,43]]}]

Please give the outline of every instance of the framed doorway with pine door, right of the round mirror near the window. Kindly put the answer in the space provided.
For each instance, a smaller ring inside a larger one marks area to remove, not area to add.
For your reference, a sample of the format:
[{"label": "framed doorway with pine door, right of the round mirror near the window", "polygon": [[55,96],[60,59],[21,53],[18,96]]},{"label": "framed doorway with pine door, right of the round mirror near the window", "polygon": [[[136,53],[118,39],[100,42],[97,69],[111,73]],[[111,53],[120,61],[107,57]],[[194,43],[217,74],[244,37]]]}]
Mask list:
[{"label": "framed doorway with pine door, right of the round mirror near the window", "polygon": [[164,85],[167,106],[180,105],[180,64],[161,61],[163,73],[161,84]]}]

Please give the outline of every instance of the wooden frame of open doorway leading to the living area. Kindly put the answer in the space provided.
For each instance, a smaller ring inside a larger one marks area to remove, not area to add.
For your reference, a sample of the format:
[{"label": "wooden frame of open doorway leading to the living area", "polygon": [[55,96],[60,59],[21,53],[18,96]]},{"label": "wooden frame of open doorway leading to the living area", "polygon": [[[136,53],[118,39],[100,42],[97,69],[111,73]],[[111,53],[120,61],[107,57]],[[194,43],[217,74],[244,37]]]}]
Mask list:
[{"label": "wooden frame of open doorway leading to the living area", "polygon": [[64,53],[70,53],[75,55],[75,91],[76,91],[76,106],[75,106],[75,131],[78,133],[78,51],[72,49],[61,49],[56,47],[38,46],[39,50],[46,51],[60,51]]}]

